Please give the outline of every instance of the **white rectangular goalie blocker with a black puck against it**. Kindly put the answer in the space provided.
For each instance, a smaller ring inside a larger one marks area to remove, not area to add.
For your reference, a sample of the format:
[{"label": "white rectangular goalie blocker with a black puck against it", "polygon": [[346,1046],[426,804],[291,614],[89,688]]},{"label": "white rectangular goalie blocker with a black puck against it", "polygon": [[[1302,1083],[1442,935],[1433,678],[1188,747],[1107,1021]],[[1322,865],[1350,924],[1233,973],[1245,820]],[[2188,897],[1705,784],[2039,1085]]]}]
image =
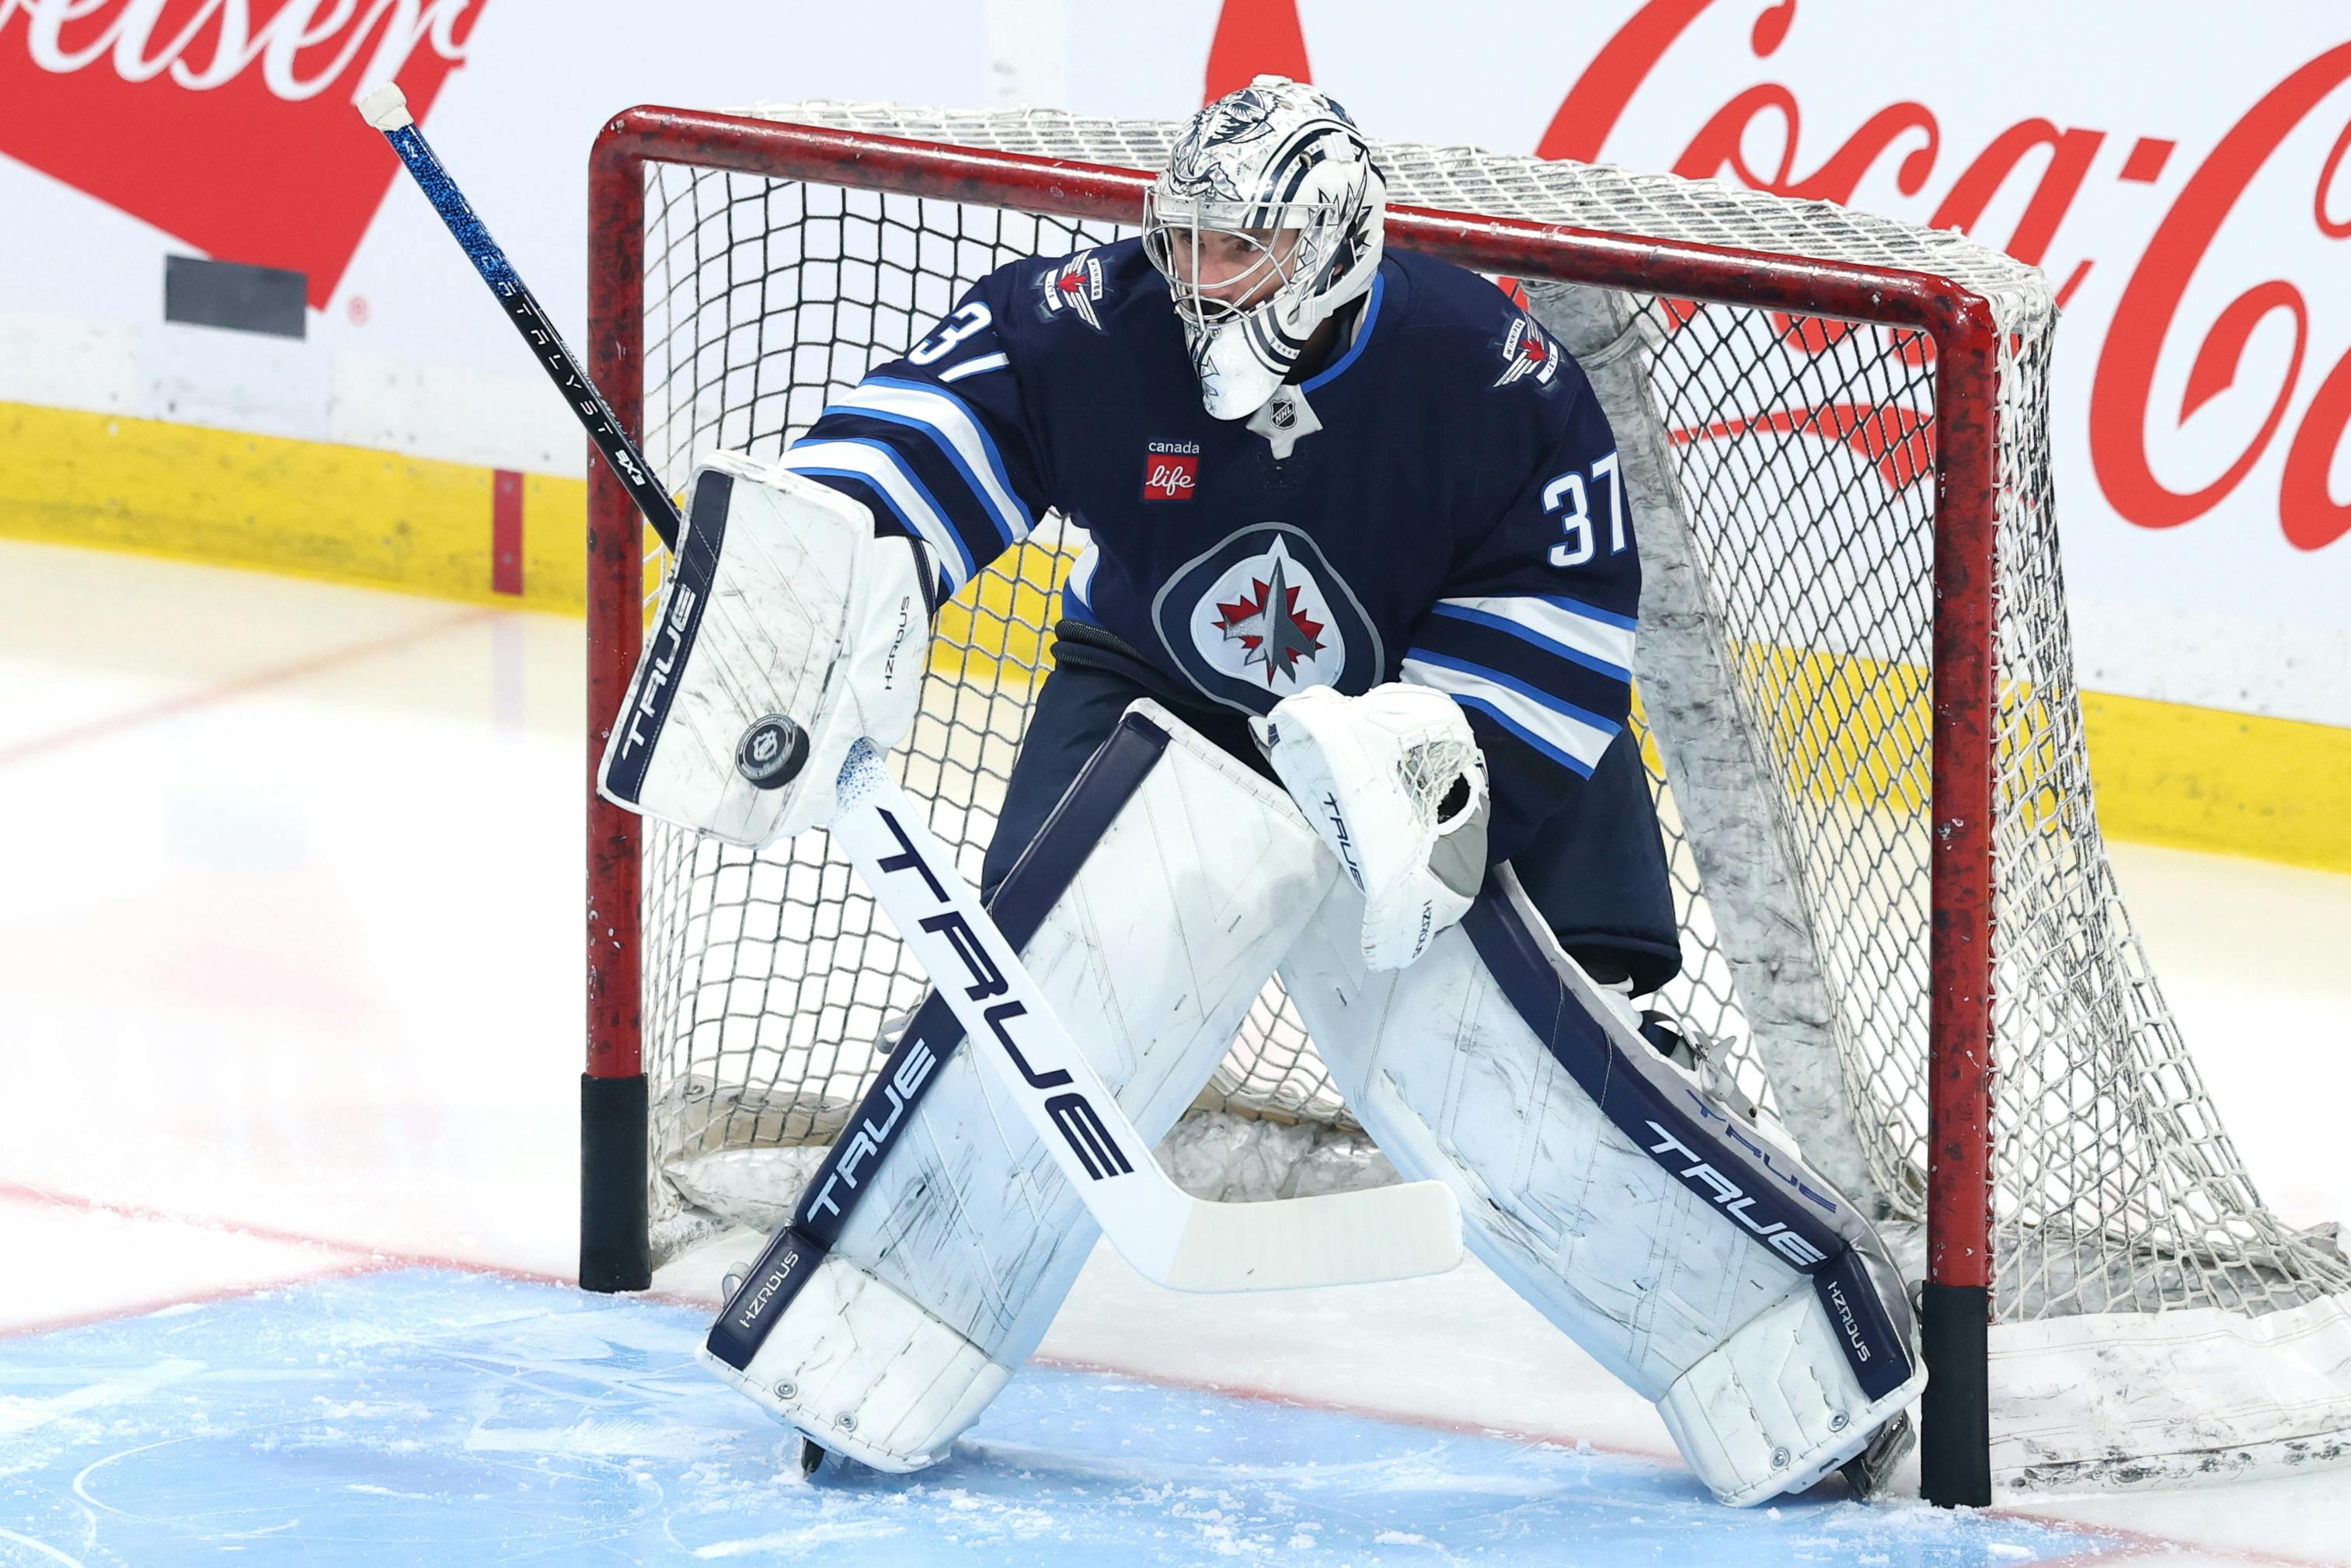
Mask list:
[{"label": "white rectangular goalie blocker with a black puck against it", "polygon": [[886,752],[915,724],[929,574],[922,543],[877,538],[837,489],[705,458],[604,743],[604,799],[752,849],[832,820],[849,748]]}]

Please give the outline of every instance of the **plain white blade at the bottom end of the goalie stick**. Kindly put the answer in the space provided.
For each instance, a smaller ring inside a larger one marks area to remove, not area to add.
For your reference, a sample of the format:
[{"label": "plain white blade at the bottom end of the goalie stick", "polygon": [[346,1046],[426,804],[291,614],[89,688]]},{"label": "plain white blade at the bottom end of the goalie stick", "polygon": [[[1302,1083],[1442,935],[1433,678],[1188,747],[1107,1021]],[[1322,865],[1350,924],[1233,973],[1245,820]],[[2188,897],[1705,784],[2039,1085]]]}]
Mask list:
[{"label": "plain white blade at the bottom end of the goalie stick", "polygon": [[1462,1211],[1444,1182],[1272,1204],[1194,1204],[1157,1281],[1171,1291],[1302,1291],[1444,1274]]}]

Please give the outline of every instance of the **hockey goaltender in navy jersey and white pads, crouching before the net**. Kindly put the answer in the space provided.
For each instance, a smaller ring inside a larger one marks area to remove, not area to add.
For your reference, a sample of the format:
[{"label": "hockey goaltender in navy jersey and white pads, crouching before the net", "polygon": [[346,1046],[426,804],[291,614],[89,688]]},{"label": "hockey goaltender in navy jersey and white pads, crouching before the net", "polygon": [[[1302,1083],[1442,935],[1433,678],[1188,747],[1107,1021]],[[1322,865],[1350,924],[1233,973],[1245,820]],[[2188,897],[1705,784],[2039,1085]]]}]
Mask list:
[{"label": "hockey goaltender in navy jersey and white pads, crouching before the net", "polygon": [[[1679,940],[1608,418],[1509,296],[1382,226],[1347,113],[1258,78],[1185,125],[1138,240],[990,273],[781,461],[708,458],[708,578],[647,651],[665,722],[616,726],[607,790],[748,844],[832,820],[851,748],[917,719],[924,611],[1058,510],[1091,543],[983,891],[1136,1131],[1279,973],[1396,1171],[1723,1502],[1869,1490],[1925,1382],[1900,1276],[1634,1006]],[[943,1458],[1093,1246],[959,1039],[917,1013],[792,1262],[712,1328],[811,1455]]]}]

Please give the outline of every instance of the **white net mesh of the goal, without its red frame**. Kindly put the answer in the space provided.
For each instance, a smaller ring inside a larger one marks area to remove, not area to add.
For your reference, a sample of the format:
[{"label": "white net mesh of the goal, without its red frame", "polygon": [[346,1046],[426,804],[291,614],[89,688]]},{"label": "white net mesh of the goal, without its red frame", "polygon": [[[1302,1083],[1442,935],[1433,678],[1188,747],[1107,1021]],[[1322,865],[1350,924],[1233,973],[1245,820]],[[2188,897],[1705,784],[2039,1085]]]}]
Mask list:
[{"label": "white net mesh of the goal, without its red frame", "polygon": [[[1145,169],[1168,146],[1164,125],[1044,110],[762,113]],[[1994,306],[1996,1316],[2262,1314],[2351,1291],[2342,1255],[2255,1194],[2097,835],[2050,508],[2041,275],[1956,233],[1714,183],[1472,148],[1385,146],[1382,165],[1394,202],[1911,268]],[[647,179],[644,430],[672,484],[710,449],[781,451],[1004,261],[1124,233],[684,162]],[[1761,306],[1549,284],[1531,303],[1594,374],[1627,454],[1648,451],[1646,470],[1627,456],[1648,581],[1636,686],[1686,957],[1662,1001],[1900,1232],[1925,1197],[1935,346]],[[1049,522],[947,607],[898,755],[973,879],[1072,541]],[[712,1218],[771,1225],[922,980],[820,842],[752,856],[654,830],[644,886],[656,1239]],[[1286,1147],[1349,1128],[1279,987],[1201,1107],[1302,1124]]]}]

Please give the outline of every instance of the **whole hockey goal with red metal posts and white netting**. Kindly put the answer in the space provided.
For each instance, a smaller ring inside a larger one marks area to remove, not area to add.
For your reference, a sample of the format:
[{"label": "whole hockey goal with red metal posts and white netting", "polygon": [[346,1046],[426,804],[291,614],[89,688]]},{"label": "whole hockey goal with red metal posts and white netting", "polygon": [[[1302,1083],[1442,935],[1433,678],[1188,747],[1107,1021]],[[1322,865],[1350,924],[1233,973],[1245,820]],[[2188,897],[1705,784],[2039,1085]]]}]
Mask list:
[{"label": "whole hockey goal with red metal posts and white netting", "polygon": [[[1171,129],[628,110],[590,174],[590,374],[672,487],[773,456],[987,270],[1133,233]],[[2097,832],[2041,273],[1716,183],[1380,162],[1387,242],[1523,289],[1617,433],[1683,914],[1662,1004],[1918,1281],[1928,1495],[2351,1453],[2351,1269],[2262,1206]],[[896,757],[973,879],[1072,538],[1049,522],[945,607]],[[602,470],[588,564],[592,776],[658,564]],[[748,853],[590,790],[588,849],[581,1279],[642,1288],[790,1215],[922,980],[823,835]],[[1279,985],[1187,1131],[1178,1175],[1220,1197],[1378,1166]]]}]

